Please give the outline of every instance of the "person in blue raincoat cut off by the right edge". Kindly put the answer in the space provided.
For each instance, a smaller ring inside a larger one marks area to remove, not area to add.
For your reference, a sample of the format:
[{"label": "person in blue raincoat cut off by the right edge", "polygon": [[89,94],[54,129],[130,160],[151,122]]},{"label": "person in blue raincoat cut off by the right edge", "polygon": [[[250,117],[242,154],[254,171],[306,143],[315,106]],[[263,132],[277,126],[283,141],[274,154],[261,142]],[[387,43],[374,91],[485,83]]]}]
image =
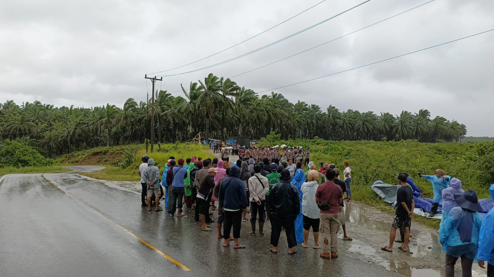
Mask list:
[{"label": "person in blue raincoat cut off by the right edge", "polygon": [[[494,200],[494,184],[489,188],[491,198]],[[487,276],[494,276],[494,208],[492,208],[484,217],[479,234],[479,266],[486,268],[484,262],[487,262]]]}]

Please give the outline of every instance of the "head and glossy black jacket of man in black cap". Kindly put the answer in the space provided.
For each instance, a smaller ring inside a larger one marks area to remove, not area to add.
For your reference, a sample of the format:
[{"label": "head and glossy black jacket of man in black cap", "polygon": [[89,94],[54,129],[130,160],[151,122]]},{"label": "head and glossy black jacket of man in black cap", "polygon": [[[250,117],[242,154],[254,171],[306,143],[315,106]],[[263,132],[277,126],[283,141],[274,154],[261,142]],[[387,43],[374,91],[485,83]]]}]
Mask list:
[{"label": "head and glossy black jacket of man in black cap", "polygon": [[281,182],[271,189],[269,194],[269,211],[280,216],[297,216],[300,213],[300,200],[295,186],[290,184],[288,169],[281,171]]}]

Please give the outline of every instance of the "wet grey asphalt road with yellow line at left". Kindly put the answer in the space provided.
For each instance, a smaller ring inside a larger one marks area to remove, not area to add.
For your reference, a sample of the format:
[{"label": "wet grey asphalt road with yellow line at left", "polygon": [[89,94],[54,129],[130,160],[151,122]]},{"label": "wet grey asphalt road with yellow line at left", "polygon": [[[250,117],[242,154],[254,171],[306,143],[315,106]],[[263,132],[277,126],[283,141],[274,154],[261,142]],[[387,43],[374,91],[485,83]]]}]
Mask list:
[{"label": "wet grey asphalt road with yellow line at left", "polygon": [[247,248],[233,249],[233,242],[224,248],[216,224],[204,232],[192,216],[150,212],[141,208],[140,195],[77,172],[44,177],[62,191],[41,174],[11,174],[0,182],[0,276],[399,276],[347,251],[329,261],[319,257],[319,249],[299,245],[289,256],[284,234],[279,253],[271,254],[268,223],[261,238],[247,235],[250,223],[243,222],[241,242]]}]

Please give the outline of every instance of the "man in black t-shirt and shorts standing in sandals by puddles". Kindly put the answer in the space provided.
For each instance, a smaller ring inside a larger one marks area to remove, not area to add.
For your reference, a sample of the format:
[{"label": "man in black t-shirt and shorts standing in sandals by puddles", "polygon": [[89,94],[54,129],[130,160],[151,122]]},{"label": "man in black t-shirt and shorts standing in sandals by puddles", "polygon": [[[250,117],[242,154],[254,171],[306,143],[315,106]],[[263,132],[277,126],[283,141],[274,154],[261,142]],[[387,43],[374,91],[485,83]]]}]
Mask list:
[{"label": "man in black t-shirt and shorts standing in sandals by puddles", "polygon": [[387,252],[393,252],[393,242],[396,237],[396,229],[405,229],[405,241],[403,246],[398,247],[398,249],[408,252],[408,240],[410,236],[410,225],[412,223],[413,209],[415,208],[415,202],[413,201],[412,187],[407,183],[407,175],[400,173],[398,175],[398,192],[396,193],[396,201],[398,202],[398,207],[396,208],[396,214],[393,217],[393,223],[391,225],[391,234],[389,235],[389,245],[383,246],[381,250]]}]

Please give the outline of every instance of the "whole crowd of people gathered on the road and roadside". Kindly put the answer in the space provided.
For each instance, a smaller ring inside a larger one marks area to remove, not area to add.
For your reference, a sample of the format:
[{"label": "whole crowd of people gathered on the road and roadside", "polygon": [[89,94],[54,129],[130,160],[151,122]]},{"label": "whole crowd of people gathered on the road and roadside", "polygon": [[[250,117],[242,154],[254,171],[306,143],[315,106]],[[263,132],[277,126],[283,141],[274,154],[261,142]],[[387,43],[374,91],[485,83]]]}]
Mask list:
[{"label": "whole crowd of people gathered on the road and roadside", "polygon": [[[288,255],[297,253],[294,249],[297,243],[309,247],[311,228],[314,236],[312,247],[322,248],[320,256],[325,259],[338,257],[337,235],[340,227],[343,240],[352,241],[343,216],[344,200],[352,201],[352,170],[348,161],[344,162],[342,171],[334,164],[325,162],[318,169],[310,161],[309,148],[302,151],[283,147],[280,153],[278,147],[256,148],[249,145],[244,150],[243,147],[234,149],[234,146],[227,148],[230,146],[226,145],[218,147],[221,160],[196,159],[192,156],[185,161],[176,161],[170,157],[163,172],[162,185],[159,168],[154,165],[153,159],[144,155],[139,167],[142,206],[149,211],[153,208],[161,211],[159,203],[164,195],[168,215],[179,217],[183,216],[184,202],[187,208],[195,211],[194,217],[201,222],[201,230],[212,231],[211,224],[216,222],[217,238],[224,239],[224,247],[228,247],[230,241],[234,241],[233,248],[247,247],[240,242],[242,221],[248,220],[247,212],[250,214],[251,236],[264,236],[264,222],[270,221],[272,247],[269,252],[273,254],[278,253],[283,229],[287,236]],[[229,164],[230,154],[239,155],[239,159]],[[474,261],[478,261],[480,267],[487,266],[488,276],[493,277],[494,209],[482,218],[479,214],[482,207],[478,204],[476,192],[464,192],[461,181],[442,170],[436,170],[435,175],[418,175],[433,185],[432,215],[437,213],[442,203],[443,219],[439,233],[442,249],[446,252],[446,276],[454,276],[454,265],[461,258],[464,277],[471,276]],[[399,188],[390,240],[381,249],[392,252],[393,243],[401,242],[403,245],[398,249],[409,252],[410,227],[414,216],[413,180],[403,172],[397,175],[397,183]],[[490,187],[490,193],[494,199],[494,185]],[[218,217],[214,219],[210,209],[216,209],[216,202]],[[398,229],[401,240],[395,241]]]}]

